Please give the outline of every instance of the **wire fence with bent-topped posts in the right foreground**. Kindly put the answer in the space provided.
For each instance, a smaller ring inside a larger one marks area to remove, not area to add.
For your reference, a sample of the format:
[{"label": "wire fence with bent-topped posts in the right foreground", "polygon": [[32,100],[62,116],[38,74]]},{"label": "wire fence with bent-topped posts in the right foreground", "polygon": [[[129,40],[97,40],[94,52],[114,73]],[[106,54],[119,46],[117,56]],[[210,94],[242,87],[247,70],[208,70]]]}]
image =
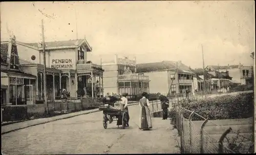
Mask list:
[{"label": "wire fence with bent-topped posts in the right foreground", "polygon": [[253,152],[253,118],[208,120],[174,105],[182,153]]}]

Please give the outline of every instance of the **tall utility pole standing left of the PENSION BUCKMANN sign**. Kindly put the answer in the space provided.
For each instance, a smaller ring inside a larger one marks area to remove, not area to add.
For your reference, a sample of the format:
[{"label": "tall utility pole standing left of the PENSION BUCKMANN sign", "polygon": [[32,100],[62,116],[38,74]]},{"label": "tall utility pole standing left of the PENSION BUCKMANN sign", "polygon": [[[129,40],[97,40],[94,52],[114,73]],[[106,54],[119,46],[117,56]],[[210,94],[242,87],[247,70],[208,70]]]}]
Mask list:
[{"label": "tall utility pole standing left of the PENSION BUCKMANN sign", "polygon": [[46,49],[45,49],[45,29],[44,29],[44,19],[41,20],[42,27],[42,53],[44,54],[44,98],[45,98],[45,109],[46,114],[48,114],[48,104],[47,104],[47,95],[46,95]]}]

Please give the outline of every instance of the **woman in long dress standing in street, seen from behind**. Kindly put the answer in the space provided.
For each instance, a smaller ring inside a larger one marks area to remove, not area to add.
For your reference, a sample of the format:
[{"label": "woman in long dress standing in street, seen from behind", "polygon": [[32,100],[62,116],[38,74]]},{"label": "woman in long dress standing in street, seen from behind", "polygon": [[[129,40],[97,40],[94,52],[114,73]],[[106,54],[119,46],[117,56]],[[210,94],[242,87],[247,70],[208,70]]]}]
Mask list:
[{"label": "woman in long dress standing in street, seen from behind", "polygon": [[147,93],[142,93],[142,98],[139,101],[140,105],[140,118],[139,118],[139,129],[148,130],[152,128],[152,121],[150,116],[150,101],[148,101]]}]

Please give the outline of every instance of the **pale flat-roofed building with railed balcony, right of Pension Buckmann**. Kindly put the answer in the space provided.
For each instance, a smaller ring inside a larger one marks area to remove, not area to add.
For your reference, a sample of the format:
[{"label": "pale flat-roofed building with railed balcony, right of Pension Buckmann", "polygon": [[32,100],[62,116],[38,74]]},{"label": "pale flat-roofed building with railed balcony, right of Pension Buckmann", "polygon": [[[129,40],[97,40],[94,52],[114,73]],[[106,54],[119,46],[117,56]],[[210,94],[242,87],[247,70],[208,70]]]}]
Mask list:
[{"label": "pale flat-roofed building with railed balcony, right of Pension Buckmann", "polygon": [[149,77],[136,72],[136,58],[120,58],[115,55],[101,61],[104,70],[104,95],[107,93],[138,95],[150,92]]}]

